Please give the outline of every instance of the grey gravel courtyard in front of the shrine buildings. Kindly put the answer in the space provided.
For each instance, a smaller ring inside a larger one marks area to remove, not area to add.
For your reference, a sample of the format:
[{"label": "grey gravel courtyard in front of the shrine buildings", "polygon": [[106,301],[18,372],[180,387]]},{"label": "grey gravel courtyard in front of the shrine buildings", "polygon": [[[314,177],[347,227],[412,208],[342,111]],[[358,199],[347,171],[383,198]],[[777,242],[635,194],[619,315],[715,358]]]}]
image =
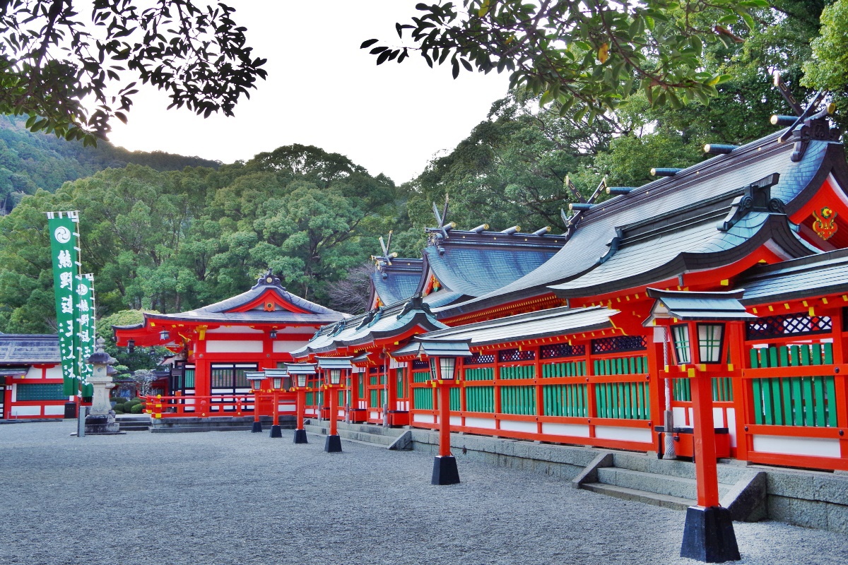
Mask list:
[{"label": "grey gravel courtyard in front of the shrine buildings", "polygon": [[[460,462],[249,432],[70,437],[75,421],[0,426],[4,565],[695,563],[684,512]],[[742,563],[845,563],[848,536],[735,523]]]}]

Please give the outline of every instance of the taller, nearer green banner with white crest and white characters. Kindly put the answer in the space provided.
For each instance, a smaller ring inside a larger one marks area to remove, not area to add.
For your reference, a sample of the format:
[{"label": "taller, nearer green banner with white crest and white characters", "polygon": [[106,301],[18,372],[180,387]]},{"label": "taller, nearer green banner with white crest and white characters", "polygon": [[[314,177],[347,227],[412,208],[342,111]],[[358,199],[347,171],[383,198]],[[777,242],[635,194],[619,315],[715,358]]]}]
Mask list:
[{"label": "taller, nearer green banner with white crest and white characters", "polygon": [[53,292],[56,295],[56,324],[59,332],[59,352],[62,355],[64,394],[74,396],[79,391],[77,370],[75,284],[80,272],[80,247],[77,212],[48,212],[50,252],[53,256]]}]

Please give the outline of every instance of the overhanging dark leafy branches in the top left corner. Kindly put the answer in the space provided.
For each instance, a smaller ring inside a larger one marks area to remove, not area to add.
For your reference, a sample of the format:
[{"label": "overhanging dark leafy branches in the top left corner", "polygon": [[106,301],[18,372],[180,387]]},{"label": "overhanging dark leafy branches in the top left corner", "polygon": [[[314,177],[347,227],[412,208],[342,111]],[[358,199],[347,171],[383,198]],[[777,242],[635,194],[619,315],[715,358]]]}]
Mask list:
[{"label": "overhanging dark leafy branches in the top left corner", "polygon": [[[171,106],[232,115],[265,78],[246,29],[224,3],[93,0],[0,3],[0,114],[28,114],[31,130],[94,144],[109,120],[126,122],[137,82]],[[89,111],[84,99],[96,106]]]}]

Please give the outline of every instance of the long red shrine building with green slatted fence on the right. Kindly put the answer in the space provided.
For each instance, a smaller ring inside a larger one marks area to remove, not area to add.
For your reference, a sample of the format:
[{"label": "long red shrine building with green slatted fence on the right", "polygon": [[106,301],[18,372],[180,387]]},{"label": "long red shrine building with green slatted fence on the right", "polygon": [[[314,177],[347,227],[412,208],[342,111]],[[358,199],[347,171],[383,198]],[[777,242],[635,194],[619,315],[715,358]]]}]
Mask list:
[{"label": "long red shrine building with green slatted fence on the right", "polygon": [[[389,296],[378,286],[393,276],[378,264],[371,311],[322,328],[293,357],[360,365],[335,418],[434,429],[438,395],[412,344],[465,342],[472,355],[456,360],[451,429],[634,451],[661,451],[666,413],[691,429],[690,378],[703,372],[714,375],[721,457],[848,470],[848,168],[838,138],[819,113],[745,146],[707,146],[714,156],[687,169],[656,163],[653,182],[575,203],[563,235],[457,230],[437,211],[415,295],[374,299]],[[720,313],[698,304],[715,296],[737,297],[755,318],[712,324],[721,329],[698,358],[725,357],[693,365],[695,345],[679,341],[674,320],[685,312],[710,325]],[[661,311],[671,322],[657,324]]]}]

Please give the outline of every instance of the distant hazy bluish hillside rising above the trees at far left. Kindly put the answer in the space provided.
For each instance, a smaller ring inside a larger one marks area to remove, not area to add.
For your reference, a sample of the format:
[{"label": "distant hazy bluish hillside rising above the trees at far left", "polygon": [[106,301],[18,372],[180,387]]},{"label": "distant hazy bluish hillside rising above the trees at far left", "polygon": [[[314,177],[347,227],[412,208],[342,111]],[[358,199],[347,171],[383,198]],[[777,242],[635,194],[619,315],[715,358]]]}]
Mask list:
[{"label": "distant hazy bluish hillside rising above the trees at far left", "polygon": [[25,117],[0,116],[0,214],[8,213],[27,194],[43,188],[54,192],[67,180],[90,176],[98,170],[126,167],[129,163],[153,169],[217,168],[220,163],[154,151],[127,151],[109,141],[83,147],[44,133],[32,133]]}]

